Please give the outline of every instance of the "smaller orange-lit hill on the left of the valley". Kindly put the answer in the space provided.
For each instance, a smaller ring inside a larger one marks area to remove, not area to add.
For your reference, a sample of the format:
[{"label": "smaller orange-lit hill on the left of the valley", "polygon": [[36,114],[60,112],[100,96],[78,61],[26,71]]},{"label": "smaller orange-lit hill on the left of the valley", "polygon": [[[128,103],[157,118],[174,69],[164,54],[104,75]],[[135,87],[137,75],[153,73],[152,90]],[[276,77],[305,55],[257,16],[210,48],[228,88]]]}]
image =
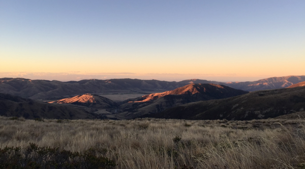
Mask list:
[{"label": "smaller orange-lit hill on the left of the valley", "polygon": [[48,103],[58,103],[58,104],[75,104],[79,106],[86,106],[86,107],[92,107],[92,108],[113,108],[118,106],[115,102],[112,100],[99,96],[99,95],[93,95],[93,94],[84,94],[84,95],[78,95],[71,98],[61,99],[57,101],[52,101]]}]

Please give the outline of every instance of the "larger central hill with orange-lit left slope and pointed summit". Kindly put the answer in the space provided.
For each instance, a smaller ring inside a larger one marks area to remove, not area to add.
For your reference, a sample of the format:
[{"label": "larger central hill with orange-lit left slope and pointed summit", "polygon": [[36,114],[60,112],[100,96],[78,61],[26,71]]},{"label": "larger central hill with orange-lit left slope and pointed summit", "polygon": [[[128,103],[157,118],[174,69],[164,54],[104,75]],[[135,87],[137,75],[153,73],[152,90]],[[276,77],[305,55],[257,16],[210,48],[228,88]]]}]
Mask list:
[{"label": "larger central hill with orange-lit left slope and pointed summit", "polygon": [[224,85],[190,84],[172,91],[145,95],[129,99],[115,109],[117,118],[134,118],[147,113],[158,113],[168,108],[201,100],[222,99],[249,92],[236,90]]}]

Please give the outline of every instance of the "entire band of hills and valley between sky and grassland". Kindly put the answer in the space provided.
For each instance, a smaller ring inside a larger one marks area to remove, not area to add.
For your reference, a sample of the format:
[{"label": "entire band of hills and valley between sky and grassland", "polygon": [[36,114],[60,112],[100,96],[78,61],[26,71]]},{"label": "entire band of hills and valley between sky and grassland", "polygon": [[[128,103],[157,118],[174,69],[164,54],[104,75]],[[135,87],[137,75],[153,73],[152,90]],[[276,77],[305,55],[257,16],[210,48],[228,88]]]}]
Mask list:
[{"label": "entire band of hills and valley between sky and grassland", "polygon": [[[60,82],[2,78],[0,91],[27,97],[2,94],[1,115],[32,119],[273,118],[304,110],[304,81],[301,81],[304,77],[271,77],[253,82],[227,82],[225,85],[217,84],[222,82],[200,79],[179,82],[140,79]],[[272,89],[249,93],[230,86],[247,88],[248,91],[258,87]],[[287,86],[288,89],[284,89]],[[75,95],[84,92],[91,93]],[[60,113],[54,116],[54,111]]]}]

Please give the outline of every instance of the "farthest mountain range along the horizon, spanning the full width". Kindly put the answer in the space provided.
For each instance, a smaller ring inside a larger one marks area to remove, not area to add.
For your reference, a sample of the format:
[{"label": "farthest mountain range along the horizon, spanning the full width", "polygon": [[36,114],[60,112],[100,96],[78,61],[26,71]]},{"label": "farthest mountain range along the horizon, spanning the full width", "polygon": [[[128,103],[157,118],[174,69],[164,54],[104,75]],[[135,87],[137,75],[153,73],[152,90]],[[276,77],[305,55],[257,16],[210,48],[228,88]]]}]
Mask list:
[{"label": "farthest mountain range along the horizon, spanning the full width", "polygon": [[219,82],[201,79],[176,81],[141,79],[88,79],[80,81],[31,80],[25,78],[0,78],[0,93],[31,99],[63,99],[83,95],[109,92],[165,92],[190,83],[215,83],[243,91],[282,89],[305,81],[305,76],[270,77],[257,81]]}]

